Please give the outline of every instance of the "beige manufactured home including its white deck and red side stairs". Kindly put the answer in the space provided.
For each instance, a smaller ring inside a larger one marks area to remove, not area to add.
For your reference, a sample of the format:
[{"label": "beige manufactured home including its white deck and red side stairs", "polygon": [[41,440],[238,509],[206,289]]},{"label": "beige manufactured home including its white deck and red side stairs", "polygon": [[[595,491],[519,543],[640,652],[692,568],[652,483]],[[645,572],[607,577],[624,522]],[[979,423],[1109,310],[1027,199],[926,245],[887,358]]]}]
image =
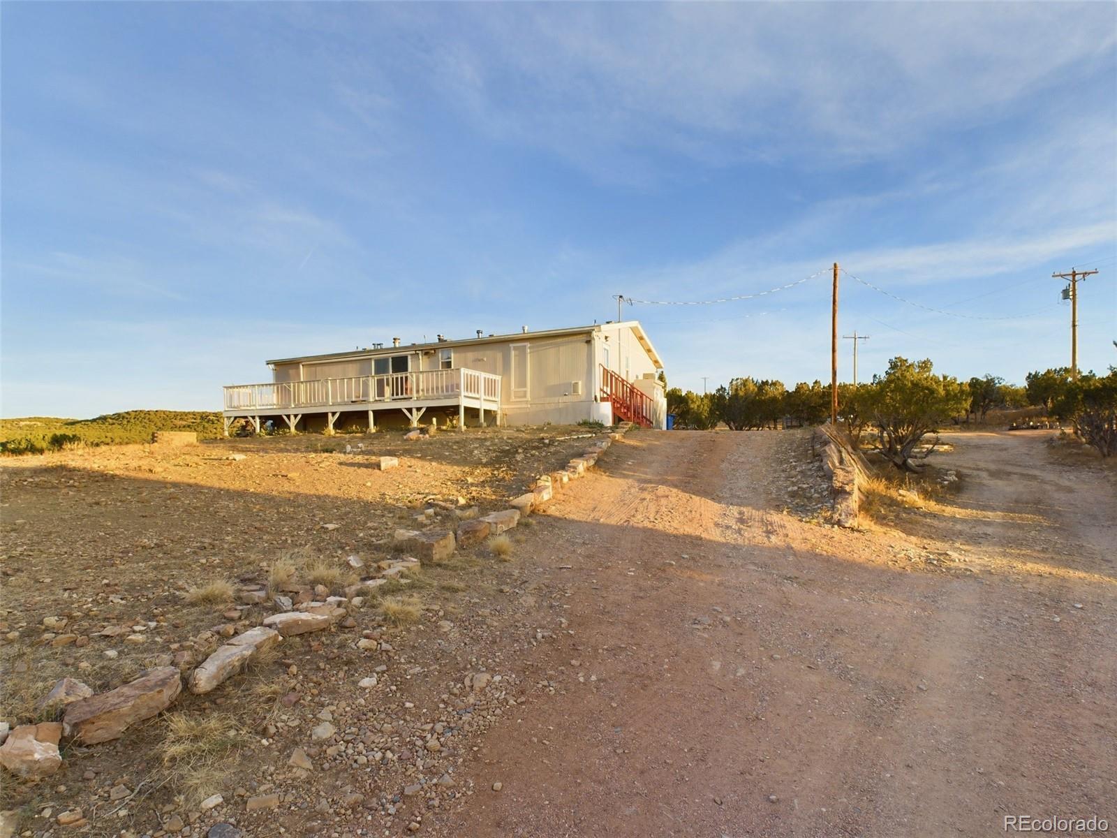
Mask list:
[{"label": "beige manufactured home including its white deck and red side stairs", "polygon": [[[638,321],[389,345],[267,362],[271,381],[225,388],[225,430],[245,419],[290,430],[420,421],[442,426],[631,421],[662,428],[663,369]],[[284,427],[279,425],[279,427]]]}]

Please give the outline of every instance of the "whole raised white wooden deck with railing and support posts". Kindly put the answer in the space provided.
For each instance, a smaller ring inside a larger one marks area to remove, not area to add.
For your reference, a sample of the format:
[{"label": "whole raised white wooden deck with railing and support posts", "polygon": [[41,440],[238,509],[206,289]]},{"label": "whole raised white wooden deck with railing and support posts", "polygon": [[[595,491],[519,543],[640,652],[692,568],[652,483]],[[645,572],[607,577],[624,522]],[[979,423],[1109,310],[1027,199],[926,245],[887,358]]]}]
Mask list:
[{"label": "whole raised white wooden deck with railing and support posts", "polygon": [[354,375],[314,381],[231,384],[225,388],[225,430],[236,419],[249,419],[260,427],[261,417],[283,417],[295,430],[304,415],[324,413],[327,427],[343,412],[367,411],[369,427],[375,428],[375,411],[402,410],[412,427],[428,408],[457,407],[459,427],[465,427],[466,408],[485,411],[499,420],[500,377],[466,368],[391,372],[384,375]]}]

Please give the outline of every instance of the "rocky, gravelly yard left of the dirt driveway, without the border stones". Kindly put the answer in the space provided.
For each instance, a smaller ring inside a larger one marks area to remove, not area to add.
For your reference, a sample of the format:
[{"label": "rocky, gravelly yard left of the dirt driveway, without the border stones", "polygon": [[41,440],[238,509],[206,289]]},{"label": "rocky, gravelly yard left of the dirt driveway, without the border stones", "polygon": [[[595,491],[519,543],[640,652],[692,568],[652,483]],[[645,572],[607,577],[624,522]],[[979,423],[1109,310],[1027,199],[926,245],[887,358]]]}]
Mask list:
[{"label": "rocky, gravelly yard left of the dirt driveway, without the border stones", "polygon": [[[276,610],[240,594],[267,585],[277,564],[295,569],[276,589],[296,600],[304,585],[343,594],[392,558],[397,528],[452,530],[464,513],[506,508],[601,438],[584,428],[413,442],[380,434],[3,460],[0,718],[57,717],[60,705],[41,703],[67,676],[101,693],[151,667],[189,674]],[[382,456],[400,466],[379,470]],[[524,536],[509,534],[515,551]],[[236,596],[189,600],[213,581],[231,582]],[[515,701],[519,678],[500,672],[491,640],[510,627],[529,644],[543,639],[550,629],[524,616],[534,590],[488,543],[459,550],[361,591],[371,596],[346,604],[330,630],[288,638],[212,693],[184,691],[114,742],[71,743],[48,779],[7,775],[3,808],[30,835],[202,835],[222,816],[250,835],[274,834],[264,823],[304,835],[354,812],[404,819],[468,789],[441,743],[483,731]],[[386,599],[402,602],[401,617],[385,616]],[[198,749],[169,755],[166,742],[192,729],[216,740],[219,759]],[[332,779],[346,768],[350,780]]]}]

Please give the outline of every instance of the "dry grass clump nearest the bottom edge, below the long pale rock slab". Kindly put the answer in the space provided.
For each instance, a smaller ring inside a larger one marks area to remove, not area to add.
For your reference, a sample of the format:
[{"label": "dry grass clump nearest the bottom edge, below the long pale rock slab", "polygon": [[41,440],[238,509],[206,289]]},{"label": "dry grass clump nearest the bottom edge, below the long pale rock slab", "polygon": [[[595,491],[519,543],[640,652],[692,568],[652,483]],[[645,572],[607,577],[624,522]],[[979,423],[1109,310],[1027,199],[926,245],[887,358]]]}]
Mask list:
[{"label": "dry grass clump nearest the bottom edge, below the long pale rock slab", "polygon": [[219,791],[236,765],[232,752],[245,743],[245,732],[228,713],[166,717],[159,745],[168,782],[193,807]]}]

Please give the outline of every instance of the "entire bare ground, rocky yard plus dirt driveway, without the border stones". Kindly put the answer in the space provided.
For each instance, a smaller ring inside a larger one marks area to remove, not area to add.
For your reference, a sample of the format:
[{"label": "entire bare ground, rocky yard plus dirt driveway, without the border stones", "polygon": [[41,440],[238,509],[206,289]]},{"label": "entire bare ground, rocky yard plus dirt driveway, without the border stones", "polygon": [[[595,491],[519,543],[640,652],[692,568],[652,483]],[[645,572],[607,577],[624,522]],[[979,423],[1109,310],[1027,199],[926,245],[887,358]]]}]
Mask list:
[{"label": "entire bare ground, rocky yard plus dirt driveway, without the border stones", "polygon": [[[349,556],[360,577],[395,527],[502,508],[593,441],[577,434],[0,464],[4,720],[42,718],[63,674],[105,689],[275,610],[184,601],[216,577],[264,584],[286,561],[292,597],[317,574],[313,596],[361,598],[118,740],[64,739],[57,773],[6,775],[19,829],[976,838],[1011,812],[1117,820],[1111,469],[952,435],[951,492],[878,499],[855,532],[828,521],[809,432],[634,431],[507,543],[345,591]],[[370,468],[381,455],[401,467]]]}]

